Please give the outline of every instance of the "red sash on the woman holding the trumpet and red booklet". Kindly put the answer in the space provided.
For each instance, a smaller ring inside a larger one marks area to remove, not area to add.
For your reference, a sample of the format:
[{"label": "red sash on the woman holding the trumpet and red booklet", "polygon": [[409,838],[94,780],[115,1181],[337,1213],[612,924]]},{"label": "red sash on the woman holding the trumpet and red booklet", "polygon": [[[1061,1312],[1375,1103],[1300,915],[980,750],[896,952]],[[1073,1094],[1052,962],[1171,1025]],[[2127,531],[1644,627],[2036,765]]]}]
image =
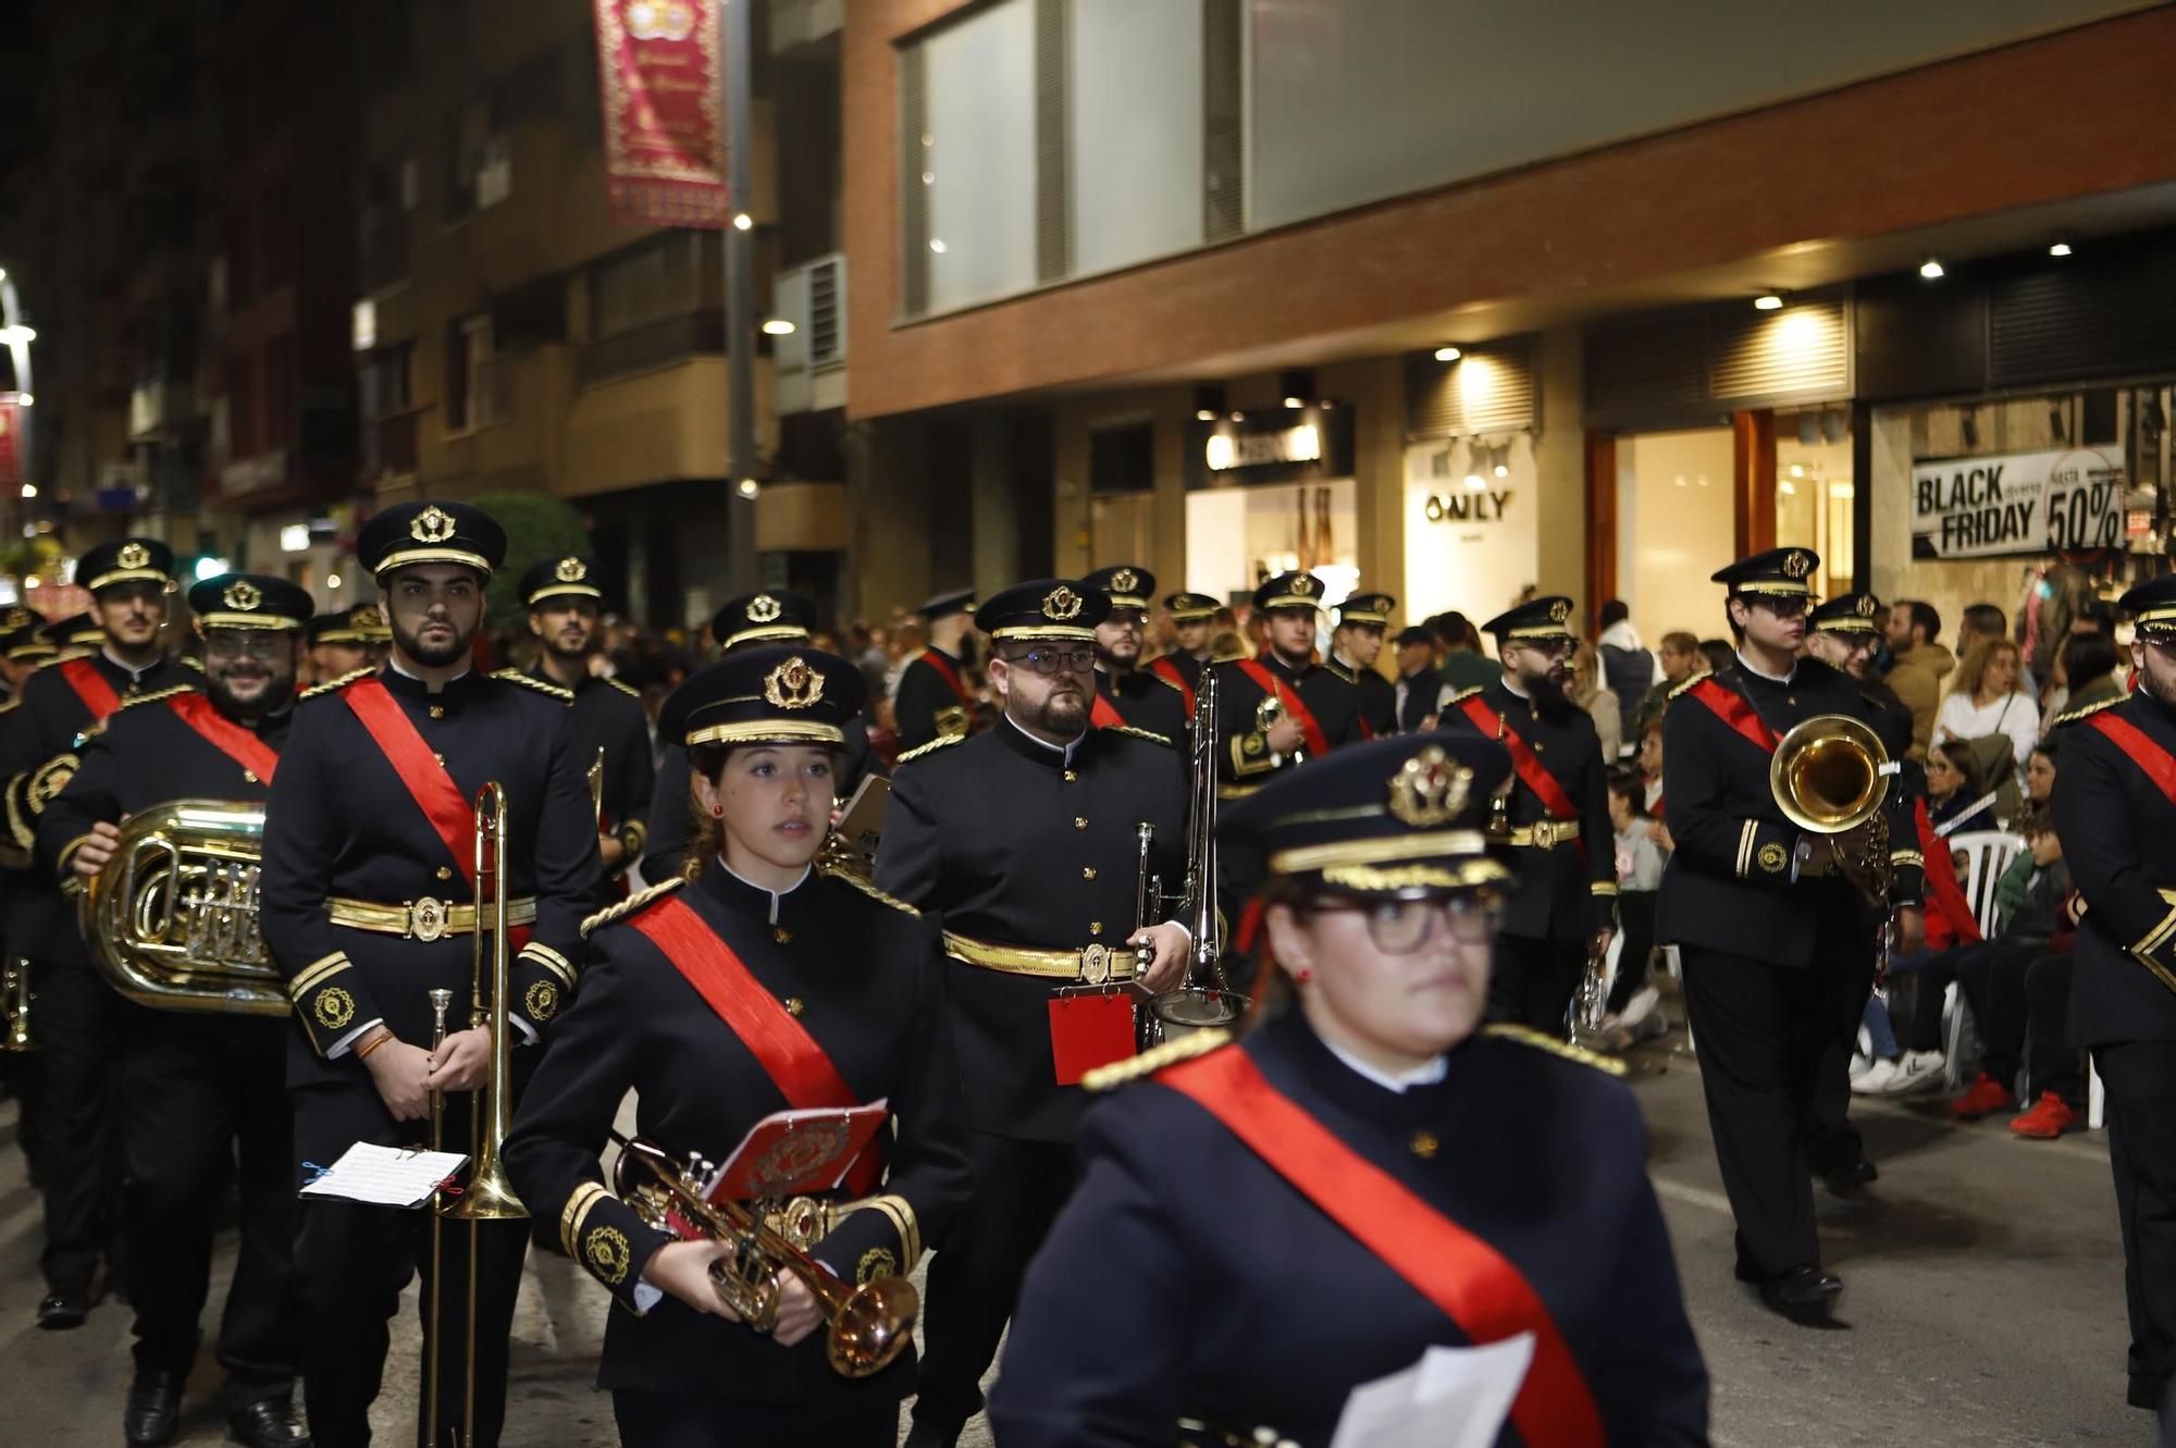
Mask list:
[{"label": "red sash on the woman holding the trumpet and red booklet", "polygon": [[[642,931],[688,978],[688,985],[709,1002],[718,1020],[740,1037],[770,1083],[779,1087],[788,1107],[807,1111],[862,1104],[816,1037],[788,1015],[786,1007],[733,954],[733,948],[703,924],[692,904],[666,898],[627,924]],[[855,1196],[866,1196],[877,1185],[879,1170],[879,1152],[870,1148],[846,1172],[846,1187]]]}]

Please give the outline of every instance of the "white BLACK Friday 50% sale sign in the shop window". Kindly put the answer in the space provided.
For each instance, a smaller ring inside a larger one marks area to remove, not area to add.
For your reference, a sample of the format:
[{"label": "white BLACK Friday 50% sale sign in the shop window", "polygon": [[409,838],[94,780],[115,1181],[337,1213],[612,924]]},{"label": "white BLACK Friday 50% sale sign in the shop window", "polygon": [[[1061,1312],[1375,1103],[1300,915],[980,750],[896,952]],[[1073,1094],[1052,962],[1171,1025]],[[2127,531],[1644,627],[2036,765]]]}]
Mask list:
[{"label": "white BLACK Friday 50% sale sign in the shop window", "polygon": [[1915,559],[2078,552],[2124,541],[2124,450],[2067,448],[1913,463]]}]

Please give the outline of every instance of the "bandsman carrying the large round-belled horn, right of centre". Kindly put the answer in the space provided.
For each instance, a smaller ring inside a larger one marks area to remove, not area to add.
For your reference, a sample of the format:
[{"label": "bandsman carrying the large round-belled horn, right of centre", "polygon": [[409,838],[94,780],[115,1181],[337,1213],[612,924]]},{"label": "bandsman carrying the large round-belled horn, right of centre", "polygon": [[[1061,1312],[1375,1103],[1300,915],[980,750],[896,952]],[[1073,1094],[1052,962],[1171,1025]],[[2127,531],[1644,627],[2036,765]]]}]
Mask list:
[{"label": "bandsman carrying the large round-belled horn, right of centre", "polygon": [[[1736,661],[1680,685],[1662,715],[1662,772],[1676,850],[1656,902],[1656,939],[1680,946],[1699,1081],[1723,1189],[1736,1215],[1736,1274],[1771,1309],[1828,1313],[1843,1283],[1821,1270],[1808,1172],[1850,1157],[1850,1050],[1874,983],[1876,926],[1897,911],[1919,931],[1919,850],[1906,789],[1891,785],[1889,902],[1867,904],[1874,872],[1845,876],[1843,857],[1871,850],[1876,822],[1813,835],[1769,785],[1776,741],[1817,715],[1850,715],[1880,733],[1847,674],[1800,659],[1806,578],[1817,559],[1773,548],[1715,574],[1728,585]],[[1815,1152],[1828,1161],[1815,1161]]]}]

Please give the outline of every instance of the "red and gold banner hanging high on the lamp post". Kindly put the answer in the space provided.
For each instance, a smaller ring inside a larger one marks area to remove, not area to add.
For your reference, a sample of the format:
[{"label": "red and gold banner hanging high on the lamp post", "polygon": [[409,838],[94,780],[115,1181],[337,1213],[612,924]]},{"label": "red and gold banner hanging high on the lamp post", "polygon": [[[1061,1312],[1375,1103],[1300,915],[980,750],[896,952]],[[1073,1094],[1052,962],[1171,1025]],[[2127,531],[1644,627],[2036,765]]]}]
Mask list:
[{"label": "red and gold banner hanging high on the lamp post", "polygon": [[722,61],[712,0],[594,0],[605,198],[622,226],[722,228]]}]

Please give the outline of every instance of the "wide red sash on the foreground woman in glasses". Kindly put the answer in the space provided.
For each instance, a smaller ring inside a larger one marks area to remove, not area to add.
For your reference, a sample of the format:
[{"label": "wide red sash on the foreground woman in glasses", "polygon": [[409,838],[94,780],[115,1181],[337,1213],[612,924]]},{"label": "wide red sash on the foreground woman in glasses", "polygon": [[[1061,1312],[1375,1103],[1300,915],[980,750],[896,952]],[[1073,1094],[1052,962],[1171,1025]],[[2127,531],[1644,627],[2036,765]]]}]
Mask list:
[{"label": "wide red sash on the foreground woman in glasses", "polygon": [[1245,1050],[1175,1065],[1164,1085],[1214,1115],[1301,1196],[1434,1302],[1473,1344],[1534,1335],[1510,1405],[1528,1444],[1602,1448],[1602,1413],[1549,1307],[1519,1268],[1279,1094]]}]

